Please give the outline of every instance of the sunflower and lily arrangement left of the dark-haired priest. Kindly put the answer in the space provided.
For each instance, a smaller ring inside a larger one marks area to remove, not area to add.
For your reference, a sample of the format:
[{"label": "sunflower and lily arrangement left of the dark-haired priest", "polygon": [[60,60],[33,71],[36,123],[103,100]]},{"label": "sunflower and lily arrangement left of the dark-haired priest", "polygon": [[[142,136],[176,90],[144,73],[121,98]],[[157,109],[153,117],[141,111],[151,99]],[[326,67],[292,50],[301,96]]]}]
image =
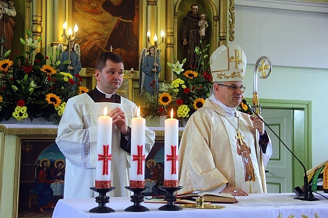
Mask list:
[{"label": "sunflower and lily arrangement left of the dark-haired priest", "polygon": [[[33,57],[33,52],[42,40],[32,39],[32,33],[27,30],[28,39],[20,38],[20,42],[26,46],[22,56],[13,53],[11,59],[8,51],[4,60],[0,61],[1,90],[0,90],[0,123],[14,117],[17,120],[42,117],[55,125],[59,124],[61,115],[69,98],[87,92],[87,88],[80,86],[79,75],[74,77],[68,72],[57,72],[61,63],[60,50],[56,51],[56,57],[49,54],[49,58],[42,53]],[[8,59],[6,59],[8,58]],[[46,64],[49,60],[50,64]],[[12,74],[10,71],[12,70]]]}]

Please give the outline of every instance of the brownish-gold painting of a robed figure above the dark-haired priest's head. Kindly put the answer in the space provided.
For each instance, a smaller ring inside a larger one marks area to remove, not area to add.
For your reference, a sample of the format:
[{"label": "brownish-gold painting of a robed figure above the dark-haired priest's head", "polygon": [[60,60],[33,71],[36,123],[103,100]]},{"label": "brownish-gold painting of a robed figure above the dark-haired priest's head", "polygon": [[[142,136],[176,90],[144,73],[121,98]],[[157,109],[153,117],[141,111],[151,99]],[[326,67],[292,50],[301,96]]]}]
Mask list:
[{"label": "brownish-gold painting of a robed figure above the dark-haired priest's head", "polygon": [[98,54],[113,51],[125,69],[139,69],[140,0],[72,0],[72,23],[78,23],[81,64],[94,68]]}]

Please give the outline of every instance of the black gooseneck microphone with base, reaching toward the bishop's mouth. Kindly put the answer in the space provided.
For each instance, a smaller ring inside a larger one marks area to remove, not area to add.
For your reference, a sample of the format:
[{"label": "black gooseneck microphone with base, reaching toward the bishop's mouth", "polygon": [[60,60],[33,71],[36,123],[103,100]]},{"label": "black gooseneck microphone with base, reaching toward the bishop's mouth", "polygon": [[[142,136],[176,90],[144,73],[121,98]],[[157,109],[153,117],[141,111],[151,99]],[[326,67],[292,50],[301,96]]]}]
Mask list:
[{"label": "black gooseneck microphone with base, reaching toward the bishop's mouth", "polygon": [[273,134],[279,139],[279,141],[283,144],[283,146],[296,158],[296,160],[298,160],[298,162],[302,165],[303,169],[304,169],[304,196],[298,196],[295,197],[294,199],[298,199],[298,200],[302,200],[302,201],[319,201],[318,198],[315,198],[312,194],[312,192],[309,194],[309,183],[308,183],[308,176],[306,176],[306,169],[304,164],[302,163],[302,161],[300,161],[300,159],[298,159],[296,157],[296,155],[286,146],[286,144],[281,140],[281,138],[275,133],[275,131],[273,131],[273,129],[271,129],[271,127],[264,122],[264,120],[257,114],[255,113],[255,111],[248,106],[247,101],[246,100],[242,100],[242,103],[247,105],[247,107],[260,119],[262,120],[262,122],[265,124],[265,126],[267,126],[272,132]]}]

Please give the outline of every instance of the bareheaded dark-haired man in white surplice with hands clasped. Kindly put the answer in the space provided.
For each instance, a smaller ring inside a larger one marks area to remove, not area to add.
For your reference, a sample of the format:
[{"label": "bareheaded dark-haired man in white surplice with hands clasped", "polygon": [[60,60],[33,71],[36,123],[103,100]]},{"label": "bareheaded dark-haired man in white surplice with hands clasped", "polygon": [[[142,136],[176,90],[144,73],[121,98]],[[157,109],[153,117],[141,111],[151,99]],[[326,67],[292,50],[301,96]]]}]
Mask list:
[{"label": "bareheaded dark-haired man in white surplice with hands clasped", "polygon": [[[109,108],[113,118],[111,186],[112,197],[130,196],[131,118],[137,106],[116,94],[122,84],[124,64],[113,52],[101,53],[96,62],[97,85],[88,93],[69,99],[58,126],[56,143],[66,157],[64,198],[92,198],[97,162],[97,117]],[[145,152],[154,144],[155,133],[146,128]],[[147,154],[146,154],[147,155]],[[97,194],[96,194],[97,195]]]}]

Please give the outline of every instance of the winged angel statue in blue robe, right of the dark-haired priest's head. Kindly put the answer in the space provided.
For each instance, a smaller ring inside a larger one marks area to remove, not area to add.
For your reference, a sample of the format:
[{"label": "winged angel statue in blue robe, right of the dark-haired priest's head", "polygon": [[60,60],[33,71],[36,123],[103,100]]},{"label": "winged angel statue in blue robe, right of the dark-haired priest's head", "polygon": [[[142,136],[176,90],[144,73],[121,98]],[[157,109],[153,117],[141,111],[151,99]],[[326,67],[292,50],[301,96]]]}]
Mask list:
[{"label": "winged angel statue in blue robe, right of the dark-haired priest's head", "polygon": [[[160,51],[155,46],[149,47],[149,54],[146,55],[147,49],[141,51],[139,68],[139,96],[144,90],[150,94],[155,94],[155,88],[158,89],[158,74],[161,71],[159,55]],[[156,53],[156,55],[155,55]]]}]

